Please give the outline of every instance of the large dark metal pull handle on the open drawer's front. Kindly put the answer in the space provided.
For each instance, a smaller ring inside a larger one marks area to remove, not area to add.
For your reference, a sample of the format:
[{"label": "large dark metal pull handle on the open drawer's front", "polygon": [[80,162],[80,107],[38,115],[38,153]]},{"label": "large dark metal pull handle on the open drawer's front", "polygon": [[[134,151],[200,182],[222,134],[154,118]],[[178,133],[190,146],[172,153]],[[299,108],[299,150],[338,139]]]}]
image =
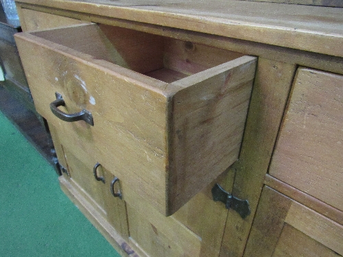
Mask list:
[{"label": "large dark metal pull handle on the open drawer's front", "polygon": [[73,121],[86,121],[86,123],[90,125],[94,125],[93,121],[93,116],[91,112],[88,112],[88,110],[82,110],[81,112],[76,112],[76,113],[65,113],[62,112],[61,110],[58,109],[58,106],[64,106],[64,99],[62,95],[59,93],[55,93],[56,95],[56,100],[50,103],[50,110],[52,113],[55,114],[58,119],[61,119],[62,121],[67,121],[67,122],[73,122]]}]

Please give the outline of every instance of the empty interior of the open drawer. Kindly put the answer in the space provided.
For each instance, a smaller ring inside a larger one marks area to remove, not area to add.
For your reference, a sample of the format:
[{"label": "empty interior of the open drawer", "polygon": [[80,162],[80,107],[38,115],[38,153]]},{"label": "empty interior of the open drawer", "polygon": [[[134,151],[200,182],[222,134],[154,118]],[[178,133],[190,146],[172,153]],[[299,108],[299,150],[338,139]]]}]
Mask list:
[{"label": "empty interior of the open drawer", "polygon": [[78,25],[32,34],[167,83],[244,56],[110,25]]}]

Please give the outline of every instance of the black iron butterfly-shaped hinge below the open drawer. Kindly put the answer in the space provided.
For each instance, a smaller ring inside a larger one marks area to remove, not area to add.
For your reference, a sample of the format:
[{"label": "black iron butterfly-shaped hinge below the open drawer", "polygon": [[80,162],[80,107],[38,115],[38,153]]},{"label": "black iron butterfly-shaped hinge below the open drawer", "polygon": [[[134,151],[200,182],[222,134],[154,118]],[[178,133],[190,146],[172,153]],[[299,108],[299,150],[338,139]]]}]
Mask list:
[{"label": "black iron butterfly-shaped hinge below the open drawer", "polygon": [[212,188],[213,201],[222,201],[226,209],[233,209],[245,219],[250,215],[250,206],[248,200],[241,200],[226,192],[222,186],[215,184]]}]

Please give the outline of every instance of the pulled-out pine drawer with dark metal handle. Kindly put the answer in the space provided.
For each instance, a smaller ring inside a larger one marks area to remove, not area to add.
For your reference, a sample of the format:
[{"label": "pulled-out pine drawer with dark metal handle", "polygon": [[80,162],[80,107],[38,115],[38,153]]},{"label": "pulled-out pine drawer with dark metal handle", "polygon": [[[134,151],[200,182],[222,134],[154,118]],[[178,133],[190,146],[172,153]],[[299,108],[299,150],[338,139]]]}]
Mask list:
[{"label": "pulled-out pine drawer with dark metal handle", "polygon": [[15,38],[38,112],[164,215],[237,160],[257,58],[96,24]]}]

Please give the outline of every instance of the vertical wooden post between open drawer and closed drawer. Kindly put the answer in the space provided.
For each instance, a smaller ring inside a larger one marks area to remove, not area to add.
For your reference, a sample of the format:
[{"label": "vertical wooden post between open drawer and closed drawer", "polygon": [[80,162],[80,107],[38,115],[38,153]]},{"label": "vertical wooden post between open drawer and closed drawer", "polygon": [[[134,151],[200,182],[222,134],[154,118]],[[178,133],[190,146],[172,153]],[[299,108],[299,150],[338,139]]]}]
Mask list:
[{"label": "vertical wooden post between open drawer and closed drawer", "polygon": [[251,214],[241,219],[228,212],[220,256],[244,253],[295,71],[295,65],[259,58],[241,153],[232,167],[233,195],[248,199]]}]

